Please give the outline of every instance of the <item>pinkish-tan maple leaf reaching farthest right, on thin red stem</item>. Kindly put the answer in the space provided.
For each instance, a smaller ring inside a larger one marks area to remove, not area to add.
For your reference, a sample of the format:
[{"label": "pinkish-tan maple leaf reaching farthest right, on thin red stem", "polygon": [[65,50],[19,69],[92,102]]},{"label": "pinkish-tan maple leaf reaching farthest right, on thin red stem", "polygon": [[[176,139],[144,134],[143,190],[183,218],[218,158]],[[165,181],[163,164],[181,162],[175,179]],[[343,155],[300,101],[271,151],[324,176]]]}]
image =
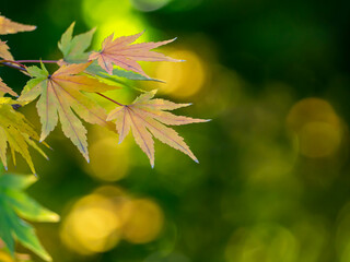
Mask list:
[{"label": "pinkish-tan maple leaf reaching farthest right, on thin red stem", "polygon": [[194,122],[207,122],[205,119],[194,119],[189,117],[175,116],[168,111],[191,104],[175,104],[164,99],[152,99],[155,91],[140,95],[131,105],[126,105],[114,109],[107,120],[116,121],[116,129],[119,133],[119,143],[132,131],[136,143],[150,158],[151,166],[154,166],[154,142],[152,134],[161,142],[178,150],[195,162],[198,159],[189,150],[184,139],[174,129],[165,124],[180,126]]}]

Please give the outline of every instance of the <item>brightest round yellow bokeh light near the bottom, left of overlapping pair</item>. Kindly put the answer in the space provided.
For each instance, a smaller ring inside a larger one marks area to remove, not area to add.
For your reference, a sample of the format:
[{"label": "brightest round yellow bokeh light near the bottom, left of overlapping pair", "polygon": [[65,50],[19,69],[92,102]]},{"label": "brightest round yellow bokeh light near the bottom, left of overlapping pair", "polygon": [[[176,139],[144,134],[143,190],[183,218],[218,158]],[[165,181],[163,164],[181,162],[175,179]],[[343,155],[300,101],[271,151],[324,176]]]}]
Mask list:
[{"label": "brightest round yellow bokeh light near the bottom, left of overlapping pair", "polygon": [[102,194],[79,200],[61,228],[63,243],[80,254],[104,252],[120,240],[121,221],[113,201]]}]

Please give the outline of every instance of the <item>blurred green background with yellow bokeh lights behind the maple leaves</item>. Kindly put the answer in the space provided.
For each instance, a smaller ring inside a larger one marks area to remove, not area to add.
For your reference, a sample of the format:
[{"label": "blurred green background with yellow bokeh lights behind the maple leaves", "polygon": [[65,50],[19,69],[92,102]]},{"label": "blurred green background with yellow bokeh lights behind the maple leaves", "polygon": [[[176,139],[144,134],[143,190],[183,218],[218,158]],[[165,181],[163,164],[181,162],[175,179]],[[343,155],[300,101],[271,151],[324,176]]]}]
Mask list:
[{"label": "blurred green background with yellow bokeh lights behind the maple leaves", "polygon": [[[62,217],[36,225],[55,261],[350,261],[349,1],[1,0],[0,11],[37,25],[2,37],[16,59],[60,59],[73,21],[75,33],[97,27],[95,49],[113,32],[177,36],[160,50],[186,62],[143,63],[167,83],[135,85],[212,119],[175,128],[199,165],[156,142],[154,169],[131,138],[118,145],[96,127],[88,165],[57,128],[30,189]],[[16,91],[27,80],[0,73]],[[39,130],[35,106],[22,111]]]}]

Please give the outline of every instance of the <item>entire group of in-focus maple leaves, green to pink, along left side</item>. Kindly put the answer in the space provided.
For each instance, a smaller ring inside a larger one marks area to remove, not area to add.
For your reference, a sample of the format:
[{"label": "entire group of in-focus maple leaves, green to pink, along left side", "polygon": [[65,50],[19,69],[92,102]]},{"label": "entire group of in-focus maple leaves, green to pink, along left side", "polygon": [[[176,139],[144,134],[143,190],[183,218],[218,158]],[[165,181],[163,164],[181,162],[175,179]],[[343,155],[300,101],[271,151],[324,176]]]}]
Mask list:
[{"label": "entire group of in-focus maple leaves, green to pink, along left side", "polygon": [[[143,32],[119,38],[110,35],[105,38],[100,51],[86,51],[95,29],[73,36],[73,28],[74,23],[69,26],[58,43],[62,58],[57,61],[14,60],[7,43],[0,40],[0,58],[2,59],[0,66],[18,69],[31,78],[20,96],[0,79],[0,158],[4,168],[7,169],[7,153],[10,150],[14,164],[15,152],[18,152],[35,174],[28,147],[35,148],[47,157],[37,142],[48,146],[44,140],[56,128],[58,121],[61,123],[65,135],[89,162],[88,131],[81,119],[117,132],[119,143],[131,130],[136,143],[147,154],[152,167],[154,166],[153,136],[198,162],[184,139],[175,130],[166,127],[207,121],[170,112],[170,110],[190,104],[175,104],[154,98],[156,91],[141,91],[142,94],[130,105],[124,105],[103,94],[106,91],[121,88],[119,85],[122,78],[156,81],[147,75],[138,61],[182,61],[151,51],[175,39],[133,44]],[[15,23],[0,15],[0,34],[33,29],[35,26]],[[24,66],[28,62],[40,62],[40,67]],[[55,62],[59,68],[50,73],[44,66],[46,62]],[[114,103],[116,108],[107,112],[89,95],[91,93]],[[15,99],[5,97],[5,94]],[[16,110],[35,99],[37,99],[36,108],[42,123],[40,134],[37,134],[34,127]],[[33,178],[33,176],[0,174],[0,238],[11,253],[14,252],[14,239],[16,239],[43,259],[49,260],[34,229],[23,221],[23,218],[35,222],[58,219],[56,214],[45,210],[22,192],[34,181]]]}]

